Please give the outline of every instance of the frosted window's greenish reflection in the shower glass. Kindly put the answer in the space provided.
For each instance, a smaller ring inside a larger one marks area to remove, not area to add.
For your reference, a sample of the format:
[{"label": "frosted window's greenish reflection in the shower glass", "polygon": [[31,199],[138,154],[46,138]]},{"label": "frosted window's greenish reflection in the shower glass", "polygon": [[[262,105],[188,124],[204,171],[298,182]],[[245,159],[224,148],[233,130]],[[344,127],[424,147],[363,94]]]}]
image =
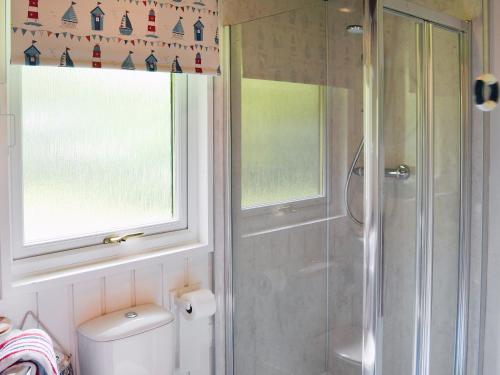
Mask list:
[{"label": "frosted window's greenish reflection in the shower glass", "polygon": [[242,206],[322,193],[322,89],[241,80]]}]

